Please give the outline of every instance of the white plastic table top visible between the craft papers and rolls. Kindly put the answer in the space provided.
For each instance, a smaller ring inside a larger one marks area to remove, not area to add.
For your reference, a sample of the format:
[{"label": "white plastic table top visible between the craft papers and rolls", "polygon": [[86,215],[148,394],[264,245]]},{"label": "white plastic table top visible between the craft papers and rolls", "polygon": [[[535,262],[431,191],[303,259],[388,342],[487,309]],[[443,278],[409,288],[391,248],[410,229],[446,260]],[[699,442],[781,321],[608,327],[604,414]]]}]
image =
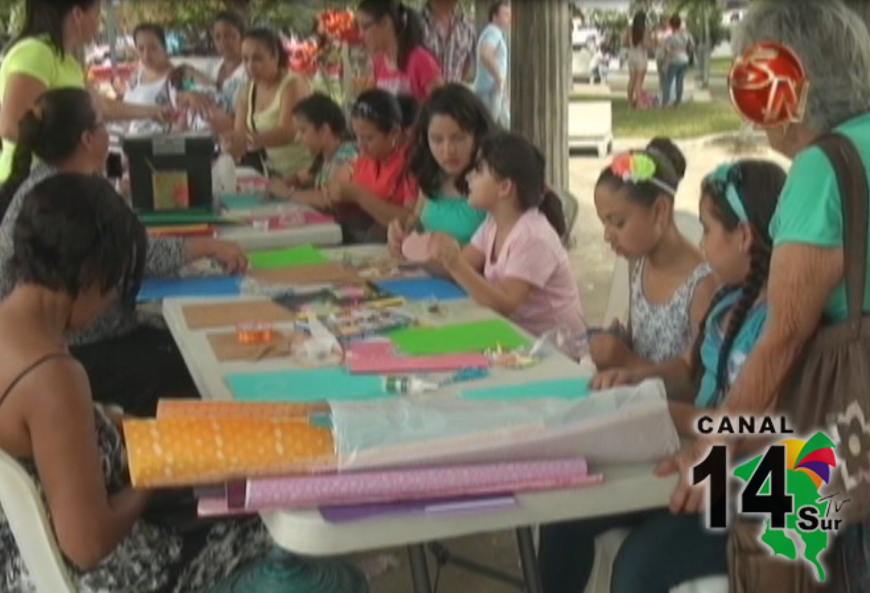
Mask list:
[{"label": "white plastic table top visible between the craft papers and rolls", "polygon": [[[355,255],[376,255],[383,251],[382,247],[376,247],[334,250],[331,253],[333,257],[340,258],[345,252]],[[232,300],[238,301],[238,299]],[[207,343],[206,334],[210,330],[188,330],[184,322],[182,307],[185,304],[198,302],[202,301],[167,299],[164,302],[164,317],[191,371],[197,389],[204,398],[231,399],[231,391],[224,383],[226,374],[255,369],[287,368],[287,361],[280,359],[258,363],[219,363]],[[216,300],[210,299],[207,302],[214,303]],[[456,323],[493,315],[492,311],[485,310],[468,300],[442,303],[441,307],[442,314],[432,316],[421,304],[406,306],[418,317],[434,323]],[[522,373],[522,380],[527,381],[536,377],[587,374],[588,370],[586,364],[581,367],[564,356],[552,355],[532,369],[492,370],[492,375],[479,381],[478,384],[516,383],[519,373]],[[441,395],[440,392],[438,395]],[[444,395],[449,396],[450,392],[445,390]],[[676,476],[667,478],[653,476],[653,464],[650,463],[592,467],[591,470],[603,472],[604,483],[579,489],[522,494],[517,496],[516,507],[474,515],[388,516],[352,523],[327,523],[316,510],[271,511],[263,513],[262,516],[271,536],[284,549],[299,554],[325,556],[572,518],[655,508],[666,504],[677,480]]]}]

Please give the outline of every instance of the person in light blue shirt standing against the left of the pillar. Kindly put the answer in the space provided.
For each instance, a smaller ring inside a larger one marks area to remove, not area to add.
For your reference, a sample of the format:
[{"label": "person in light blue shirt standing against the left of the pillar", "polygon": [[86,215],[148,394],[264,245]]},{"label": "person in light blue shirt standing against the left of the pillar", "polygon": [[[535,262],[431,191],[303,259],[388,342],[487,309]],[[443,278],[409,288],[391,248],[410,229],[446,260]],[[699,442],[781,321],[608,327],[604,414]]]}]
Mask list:
[{"label": "person in light blue shirt standing against the left of the pillar", "polygon": [[490,23],[478,39],[478,68],[474,92],[492,113],[492,118],[505,129],[511,127],[511,108],[507,78],[510,72],[510,46],[507,32],[511,30],[511,3],[497,0],[490,8]]}]

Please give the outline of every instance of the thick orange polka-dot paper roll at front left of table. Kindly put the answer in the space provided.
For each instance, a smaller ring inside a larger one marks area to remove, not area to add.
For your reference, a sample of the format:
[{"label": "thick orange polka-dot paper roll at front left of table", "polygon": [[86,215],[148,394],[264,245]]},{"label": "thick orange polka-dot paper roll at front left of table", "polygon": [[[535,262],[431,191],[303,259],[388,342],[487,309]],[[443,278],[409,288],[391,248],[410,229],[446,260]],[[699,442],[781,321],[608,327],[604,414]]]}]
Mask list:
[{"label": "thick orange polka-dot paper roll at front left of table", "polygon": [[131,482],[182,486],[335,467],[330,430],[298,420],[125,420]]}]

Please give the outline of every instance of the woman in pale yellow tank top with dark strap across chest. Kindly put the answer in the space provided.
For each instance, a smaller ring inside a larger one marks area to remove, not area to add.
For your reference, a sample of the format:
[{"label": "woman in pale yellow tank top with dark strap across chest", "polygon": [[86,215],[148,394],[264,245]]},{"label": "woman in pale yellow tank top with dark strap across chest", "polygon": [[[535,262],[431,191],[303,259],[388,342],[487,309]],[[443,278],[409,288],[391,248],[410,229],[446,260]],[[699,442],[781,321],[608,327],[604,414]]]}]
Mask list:
[{"label": "woman in pale yellow tank top with dark strap across chest", "polygon": [[288,177],[311,166],[311,153],[298,143],[293,107],[311,94],[304,78],[289,72],[281,38],[268,29],[252,29],[242,43],[251,82],[240,90],[234,130],[224,150],[261,172]]}]

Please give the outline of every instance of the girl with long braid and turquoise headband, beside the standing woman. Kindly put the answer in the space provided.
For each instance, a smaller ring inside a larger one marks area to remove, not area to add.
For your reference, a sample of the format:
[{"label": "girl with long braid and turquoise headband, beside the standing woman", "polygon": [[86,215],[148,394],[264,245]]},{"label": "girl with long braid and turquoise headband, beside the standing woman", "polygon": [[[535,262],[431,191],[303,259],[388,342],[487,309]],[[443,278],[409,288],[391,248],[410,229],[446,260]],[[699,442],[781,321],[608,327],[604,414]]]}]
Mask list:
[{"label": "girl with long braid and turquoise headband, beside the standing woman", "polygon": [[[671,410],[680,434],[696,436],[694,416],[699,409],[723,402],[765,323],[773,248],[768,227],[785,181],[779,165],[752,160],[723,165],[705,178],[700,200],[702,245],[723,288],[706,314],[702,335],[692,348],[665,363],[599,373],[593,382],[597,389],[659,376],[670,398],[692,402],[672,402]],[[660,474],[672,470],[667,464],[659,467]],[[548,593],[583,590],[595,561],[595,537],[625,527],[633,529],[613,562],[612,591],[668,591],[686,581],[726,572],[725,532],[704,530],[696,514],[653,510],[545,526],[539,554],[544,589]],[[660,570],[663,566],[668,570]]]}]

